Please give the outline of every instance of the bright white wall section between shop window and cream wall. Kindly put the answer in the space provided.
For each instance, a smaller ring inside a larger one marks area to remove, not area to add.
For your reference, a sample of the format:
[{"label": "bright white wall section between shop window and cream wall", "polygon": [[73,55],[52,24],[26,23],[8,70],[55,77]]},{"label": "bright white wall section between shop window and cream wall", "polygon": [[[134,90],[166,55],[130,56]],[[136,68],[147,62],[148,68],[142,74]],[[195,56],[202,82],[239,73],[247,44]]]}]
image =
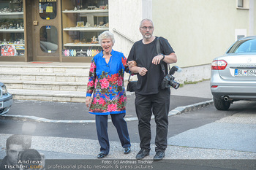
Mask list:
[{"label": "bright white wall section between shop window and cream wall", "polygon": [[[116,31],[124,34],[134,42],[141,39],[139,24],[142,18],[142,0],[109,0],[109,23],[110,31],[115,34],[116,44],[113,50],[129,55],[133,42],[124,38]],[[113,31],[116,29],[116,31]]]}]

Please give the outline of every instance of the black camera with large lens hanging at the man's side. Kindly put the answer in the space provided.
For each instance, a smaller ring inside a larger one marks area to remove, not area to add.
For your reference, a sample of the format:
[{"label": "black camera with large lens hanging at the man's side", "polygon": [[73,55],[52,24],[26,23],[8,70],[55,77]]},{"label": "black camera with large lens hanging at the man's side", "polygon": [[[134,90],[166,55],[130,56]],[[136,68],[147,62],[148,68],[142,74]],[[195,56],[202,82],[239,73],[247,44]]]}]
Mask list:
[{"label": "black camera with large lens hanging at the man's side", "polygon": [[179,68],[178,66],[173,66],[170,69],[169,74],[165,75],[164,79],[162,80],[161,88],[166,89],[166,88],[173,87],[175,89],[178,89],[180,84],[174,80],[175,77],[173,77],[173,74],[175,72],[181,72],[181,70],[182,69]]}]

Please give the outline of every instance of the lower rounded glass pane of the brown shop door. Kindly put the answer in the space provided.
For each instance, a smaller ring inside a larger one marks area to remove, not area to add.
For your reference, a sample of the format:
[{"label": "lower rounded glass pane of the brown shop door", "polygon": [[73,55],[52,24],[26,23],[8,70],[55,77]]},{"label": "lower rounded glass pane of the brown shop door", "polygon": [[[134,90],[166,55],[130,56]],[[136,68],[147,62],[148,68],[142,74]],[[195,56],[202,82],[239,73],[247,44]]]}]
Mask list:
[{"label": "lower rounded glass pane of the brown shop door", "polygon": [[55,26],[40,28],[40,47],[45,53],[56,53],[58,50],[58,31]]}]

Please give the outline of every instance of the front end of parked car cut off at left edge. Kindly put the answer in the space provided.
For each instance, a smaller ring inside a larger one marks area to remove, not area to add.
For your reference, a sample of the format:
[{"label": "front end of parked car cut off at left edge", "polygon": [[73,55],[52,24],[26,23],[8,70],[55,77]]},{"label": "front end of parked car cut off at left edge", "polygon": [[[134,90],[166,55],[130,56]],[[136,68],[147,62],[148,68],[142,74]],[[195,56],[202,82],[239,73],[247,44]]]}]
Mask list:
[{"label": "front end of parked car cut off at left edge", "polygon": [[0,82],[0,115],[9,112],[12,106],[12,94],[8,93],[4,83]]}]

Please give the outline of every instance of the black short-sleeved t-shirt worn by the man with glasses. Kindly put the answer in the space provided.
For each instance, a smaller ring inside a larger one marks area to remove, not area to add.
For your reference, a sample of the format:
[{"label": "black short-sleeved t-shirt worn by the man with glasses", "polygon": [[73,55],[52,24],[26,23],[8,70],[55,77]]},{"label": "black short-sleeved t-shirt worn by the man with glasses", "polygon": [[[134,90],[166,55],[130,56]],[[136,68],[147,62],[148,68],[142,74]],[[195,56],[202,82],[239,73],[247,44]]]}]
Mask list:
[{"label": "black short-sleeved t-shirt worn by the man with glasses", "polygon": [[[170,55],[174,53],[173,48],[170,46],[167,39],[159,37],[161,53]],[[153,42],[149,44],[143,44],[142,39],[132,46],[127,61],[136,61],[137,66],[145,67],[148,72],[145,76],[138,76],[136,93],[141,95],[157,94],[159,92],[159,86],[165,74],[162,72],[161,65],[155,65],[152,63],[153,58],[157,56],[157,36]],[[165,71],[167,71],[167,63],[162,62],[165,65]]]}]

